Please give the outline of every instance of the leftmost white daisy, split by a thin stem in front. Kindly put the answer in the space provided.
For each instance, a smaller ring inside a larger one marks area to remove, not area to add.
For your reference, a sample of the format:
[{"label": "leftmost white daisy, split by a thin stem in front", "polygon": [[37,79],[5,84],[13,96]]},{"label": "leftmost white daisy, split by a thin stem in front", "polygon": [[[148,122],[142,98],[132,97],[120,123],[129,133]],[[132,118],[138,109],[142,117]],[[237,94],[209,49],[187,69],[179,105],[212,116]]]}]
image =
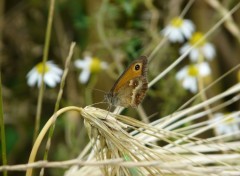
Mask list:
[{"label": "leftmost white daisy, split by a thin stem in front", "polygon": [[[43,63],[38,63],[27,74],[27,84],[33,87],[36,83],[40,87],[42,82]],[[63,70],[60,69],[53,61],[47,61],[45,65],[45,73],[43,77],[44,83],[49,87],[56,87],[57,83],[61,81]]]}]

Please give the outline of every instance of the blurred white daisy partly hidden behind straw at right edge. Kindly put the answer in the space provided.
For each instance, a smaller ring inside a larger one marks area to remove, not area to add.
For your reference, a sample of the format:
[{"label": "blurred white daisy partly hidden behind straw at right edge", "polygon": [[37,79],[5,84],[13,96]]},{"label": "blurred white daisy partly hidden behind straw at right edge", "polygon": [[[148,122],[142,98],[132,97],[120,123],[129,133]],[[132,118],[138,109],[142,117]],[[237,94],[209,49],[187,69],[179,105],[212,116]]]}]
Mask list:
[{"label": "blurred white daisy partly hidden behind straw at right edge", "polygon": [[211,122],[220,122],[215,127],[217,135],[232,134],[240,131],[239,115],[216,113],[214,114],[214,119]]}]

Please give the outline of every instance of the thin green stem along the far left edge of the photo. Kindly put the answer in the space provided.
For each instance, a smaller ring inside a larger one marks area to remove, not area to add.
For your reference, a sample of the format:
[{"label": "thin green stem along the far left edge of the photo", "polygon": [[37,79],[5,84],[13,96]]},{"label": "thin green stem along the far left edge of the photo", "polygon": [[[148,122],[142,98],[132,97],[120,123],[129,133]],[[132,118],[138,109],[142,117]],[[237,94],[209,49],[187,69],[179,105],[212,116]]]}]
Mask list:
[{"label": "thin green stem along the far left edge of the photo", "polygon": [[[5,128],[4,128],[4,118],[3,118],[3,103],[2,103],[2,81],[0,72],[0,127],[1,127],[1,147],[2,147],[2,163],[7,164],[7,154],[6,154],[6,139],[5,139]],[[4,176],[7,176],[7,171],[3,172]]]}]

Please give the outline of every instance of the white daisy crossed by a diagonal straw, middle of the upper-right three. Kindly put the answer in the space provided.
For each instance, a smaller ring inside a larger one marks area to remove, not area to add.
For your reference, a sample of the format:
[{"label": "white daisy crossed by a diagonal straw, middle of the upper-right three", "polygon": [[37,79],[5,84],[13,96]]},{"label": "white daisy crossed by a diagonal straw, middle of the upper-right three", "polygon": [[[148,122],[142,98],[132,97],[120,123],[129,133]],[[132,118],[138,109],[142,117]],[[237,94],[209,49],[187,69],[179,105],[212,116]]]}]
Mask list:
[{"label": "white daisy crossed by a diagonal straw, middle of the upper-right three", "polygon": [[[185,53],[190,47],[195,45],[200,39],[203,38],[203,34],[200,32],[195,32],[192,37],[189,39],[189,42],[184,44],[180,48],[180,53]],[[208,43],[205,39],[197,44],[190,52],[189,57],[191,61],[196,62],[199,58],[204,57],[205,59],[212,60],[216,55],[214,46],[211,43]]]}]

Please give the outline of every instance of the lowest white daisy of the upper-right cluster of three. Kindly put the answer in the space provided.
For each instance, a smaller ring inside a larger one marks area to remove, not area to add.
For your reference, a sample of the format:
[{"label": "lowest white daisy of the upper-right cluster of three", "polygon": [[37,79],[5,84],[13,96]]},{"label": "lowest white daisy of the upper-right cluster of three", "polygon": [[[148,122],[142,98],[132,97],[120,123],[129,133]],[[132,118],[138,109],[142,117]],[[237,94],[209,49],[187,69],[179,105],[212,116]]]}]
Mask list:
[{"label": "lowest white daisy of the upper-right cluster of three", "polygon": [[197,78],[205,77],[211,73],[207,62],[192,64],[183,67],[176,75],[176,78],[182,82],[182,86],[192,93],[197,92]]}]

